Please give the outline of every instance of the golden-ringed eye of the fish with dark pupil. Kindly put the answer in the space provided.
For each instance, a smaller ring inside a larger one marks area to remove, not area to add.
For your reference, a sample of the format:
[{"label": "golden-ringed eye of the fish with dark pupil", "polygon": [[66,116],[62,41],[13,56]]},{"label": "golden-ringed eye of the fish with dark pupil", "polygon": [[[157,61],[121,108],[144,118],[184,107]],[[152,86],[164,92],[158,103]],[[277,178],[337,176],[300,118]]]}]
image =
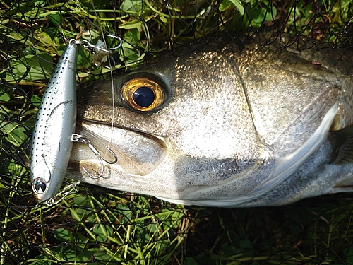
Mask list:
[{"label": "golden-ringed eye of the fish with dark pupil", "polygon": [[155,110],[167,99],[166,91],[151,78],[137,77],[128,80],[121,88],[122,98],[134,110]]}]

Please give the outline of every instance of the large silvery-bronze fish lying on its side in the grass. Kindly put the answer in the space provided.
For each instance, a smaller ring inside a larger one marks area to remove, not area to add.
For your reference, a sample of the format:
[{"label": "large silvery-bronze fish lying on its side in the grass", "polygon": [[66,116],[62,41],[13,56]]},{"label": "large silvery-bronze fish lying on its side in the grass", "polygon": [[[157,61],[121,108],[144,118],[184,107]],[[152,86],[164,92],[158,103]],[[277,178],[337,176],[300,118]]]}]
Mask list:
[{"label": "large silvery-bronze fish lying on its side in the grass", "polygon": [[196,206],[352,192],[352,51],[278,43],[184,47],[79,90],[76,129],[118,161],[85,177],[78,144],[66,177]]}]

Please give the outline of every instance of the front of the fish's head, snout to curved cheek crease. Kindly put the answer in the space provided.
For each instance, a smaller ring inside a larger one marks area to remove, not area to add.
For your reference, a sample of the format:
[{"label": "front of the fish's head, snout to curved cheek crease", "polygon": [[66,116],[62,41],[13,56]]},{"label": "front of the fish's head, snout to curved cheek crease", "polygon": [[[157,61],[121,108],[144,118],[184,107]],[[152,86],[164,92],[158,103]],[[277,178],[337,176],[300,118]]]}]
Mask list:
[{"label": "front of the fish's head, snout to curved cheek crease", "polygon": [[[97,170],[100,162],[75,143],[66,177],[193,200],[227,197],[231,179],[255,177],[259,167],[270,170],[271,163],[263,164],[270,151],[258,139],[239,75],[227,59],[216,57],[217,52],[166,55],[80,90],[76,131],[107,160],[106,147],[111,148],[118,162],[105,164],[103,176],[90,179],[83,167]],[[240,182],[230,185],[251,190],[261,177]]]}]

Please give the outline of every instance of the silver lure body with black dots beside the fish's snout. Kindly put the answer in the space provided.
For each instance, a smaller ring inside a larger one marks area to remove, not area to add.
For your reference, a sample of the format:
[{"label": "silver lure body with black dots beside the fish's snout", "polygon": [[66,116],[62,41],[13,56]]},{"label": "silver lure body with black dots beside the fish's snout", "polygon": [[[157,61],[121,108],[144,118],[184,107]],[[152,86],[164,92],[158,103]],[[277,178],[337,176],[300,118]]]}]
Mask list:
[{"label": "silver lure body with black dots beside the fish's snout", "polygon": [[76,127],[76,61],[78,46],[70,40],[44,92],[37,112],[30,154],[30,177],[38,203],[61,187]]}]

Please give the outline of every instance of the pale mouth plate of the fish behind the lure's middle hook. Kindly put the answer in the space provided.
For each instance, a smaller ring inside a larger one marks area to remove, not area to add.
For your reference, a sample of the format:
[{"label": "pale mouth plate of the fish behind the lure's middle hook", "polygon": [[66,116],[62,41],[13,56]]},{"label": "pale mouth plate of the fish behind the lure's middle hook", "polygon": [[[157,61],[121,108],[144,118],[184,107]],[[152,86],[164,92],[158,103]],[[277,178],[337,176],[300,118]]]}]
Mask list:
[{"label": "pale mouth plate of the fish behind the lure's middle hook", "polygon": [[[86,119],[78,121],[76,131],[89,139],[104,160],[114,160],[114,153],[117,157],[114,165],[119,165],[124,172],[131,175],[148,175],[167,155],[165,139],[145,131]],[[96,169],[100,163],[95,153],[84,143],[73,145],[70,160],[69,166],[76,169],[77,163],[85,168]],[[95,170],[97,171],[99,170]]]}]

